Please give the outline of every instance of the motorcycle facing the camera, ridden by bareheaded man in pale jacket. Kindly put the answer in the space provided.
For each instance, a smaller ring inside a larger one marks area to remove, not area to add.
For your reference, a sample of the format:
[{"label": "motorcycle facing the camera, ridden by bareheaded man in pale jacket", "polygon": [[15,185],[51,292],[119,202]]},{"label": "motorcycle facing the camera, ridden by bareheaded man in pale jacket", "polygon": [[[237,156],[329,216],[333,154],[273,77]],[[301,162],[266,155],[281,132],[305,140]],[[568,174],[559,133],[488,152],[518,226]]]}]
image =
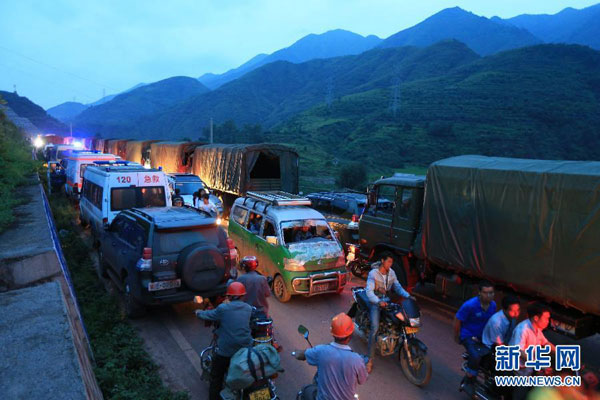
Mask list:
[{"label": "motorcycle facing the camera, ridden by bareheaded man in pale jacket", "polygon": [[[366,289],[353,287],[352,296],[354,303],[348,315],[354,320],[358,336],[368,341],[371,322]],[[419,387],[427,385],[431,379],[431,360],[427,346],[416,337],[421,327],[419,306],[412,299],[405,299],[402,304],[392,303],[387,297],[382,301],[388,305],[381,309],[376,341],[379,354],[386,357],[398,352],[400,368],[406,379]]]}]

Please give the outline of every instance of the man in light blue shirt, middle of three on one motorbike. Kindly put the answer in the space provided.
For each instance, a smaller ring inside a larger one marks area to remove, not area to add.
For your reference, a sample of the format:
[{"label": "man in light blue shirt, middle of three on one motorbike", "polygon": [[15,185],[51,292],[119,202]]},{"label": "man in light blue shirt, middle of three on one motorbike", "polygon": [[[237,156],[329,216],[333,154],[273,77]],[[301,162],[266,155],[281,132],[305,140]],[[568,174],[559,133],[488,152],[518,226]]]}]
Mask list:
[{"label": "man in light blue shirt, middle of three on one motorbike", "polygon": [[517,325],[517,318],[521,314],[519,299],[512,294],[502,298],[502,310],[488,320],[483,328],[481,341],[488,349],[493,346],[507,344]]}]

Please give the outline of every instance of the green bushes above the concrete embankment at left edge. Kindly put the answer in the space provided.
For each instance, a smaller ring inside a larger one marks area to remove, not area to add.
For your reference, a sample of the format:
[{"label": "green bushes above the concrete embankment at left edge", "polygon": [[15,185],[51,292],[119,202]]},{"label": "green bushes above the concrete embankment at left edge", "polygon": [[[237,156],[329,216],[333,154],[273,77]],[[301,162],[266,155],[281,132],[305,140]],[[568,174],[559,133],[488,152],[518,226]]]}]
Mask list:
[{"label": "green bushes above the concrete embankment at left edge", "polygon": [[[0,102],[2,98],[0,97]],[[27,182],[35,171],[31,145],[19,129],[0,110],[0,232],[15,220],[13,209],[23,199],[16,196],[15,188]]]}]

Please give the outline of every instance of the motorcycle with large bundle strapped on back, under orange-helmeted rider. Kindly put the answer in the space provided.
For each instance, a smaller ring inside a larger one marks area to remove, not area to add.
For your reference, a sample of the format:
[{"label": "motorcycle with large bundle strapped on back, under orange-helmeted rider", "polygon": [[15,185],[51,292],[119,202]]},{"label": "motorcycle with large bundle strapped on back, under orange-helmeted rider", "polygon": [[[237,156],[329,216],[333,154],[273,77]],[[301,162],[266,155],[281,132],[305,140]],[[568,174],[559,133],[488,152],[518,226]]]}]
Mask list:
[{"label": "motorcycle with large bundle strapped on back, under orange-helmeted rider", "polygon": [[[196,300],[194,300],[196,301]],[[205,321],[205,324],[213,325],[213,337],[210,345],[200,352],[200,366],[202,368],[202,379],[208,381],[212,368],[212,360],[217,351],[217,328],[218,324]],[[273,343],[273,320],[266,318],[260,313],[253,312],[250,320],[250,330],[254,345]],[[233,390],[225,385],[221,391],[223,400],[278,400],[277,388],[273,383],[276,376],[255,381],[249,387],[242,390]]]}]

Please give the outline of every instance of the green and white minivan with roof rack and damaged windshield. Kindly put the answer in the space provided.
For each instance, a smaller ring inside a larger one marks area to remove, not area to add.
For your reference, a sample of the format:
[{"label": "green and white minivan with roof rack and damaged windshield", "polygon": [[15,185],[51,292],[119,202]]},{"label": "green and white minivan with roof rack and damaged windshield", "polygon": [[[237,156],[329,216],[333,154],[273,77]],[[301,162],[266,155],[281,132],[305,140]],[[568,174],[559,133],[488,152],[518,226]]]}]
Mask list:
[{"label": "green and white minivan with roof rack and damaged windshield", "polygon": [[340,293],[350,279],[341,244],[310,204],[285,192],[248,192],[231,208],[229,236],[239,256],[258,258],[281,302],[293,294]]}]

